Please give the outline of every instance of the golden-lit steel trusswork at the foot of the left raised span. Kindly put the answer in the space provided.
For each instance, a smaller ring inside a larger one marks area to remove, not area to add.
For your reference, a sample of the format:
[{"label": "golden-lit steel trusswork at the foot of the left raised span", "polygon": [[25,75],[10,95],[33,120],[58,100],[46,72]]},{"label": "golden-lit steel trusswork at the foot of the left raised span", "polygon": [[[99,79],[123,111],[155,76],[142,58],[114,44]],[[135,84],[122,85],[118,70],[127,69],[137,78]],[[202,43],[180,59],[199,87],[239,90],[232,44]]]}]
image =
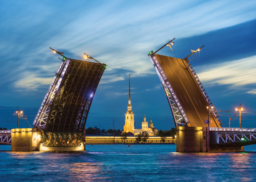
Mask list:
[{"label": "golden-lit steel trusswork at the foot of the left raised span", "polygon": [[43,146],[78,146],[83,142],[83,133],[47,133],[40,136]]}]

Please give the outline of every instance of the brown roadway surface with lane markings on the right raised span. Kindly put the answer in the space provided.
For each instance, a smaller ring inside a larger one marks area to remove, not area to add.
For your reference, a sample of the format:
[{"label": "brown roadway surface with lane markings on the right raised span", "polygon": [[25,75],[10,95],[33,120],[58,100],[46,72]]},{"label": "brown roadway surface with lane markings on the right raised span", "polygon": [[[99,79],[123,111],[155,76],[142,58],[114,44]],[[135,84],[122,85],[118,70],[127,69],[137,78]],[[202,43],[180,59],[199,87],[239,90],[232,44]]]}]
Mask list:
[{"label": "brown roadway surface with lane markings on the right raised span", "polygon": [[[208,127],[208,102],[196,79],[183,59],[155,54],[189,119],[188,126]],[[210,115],[210,127],[221,127],[215,116]]]}]

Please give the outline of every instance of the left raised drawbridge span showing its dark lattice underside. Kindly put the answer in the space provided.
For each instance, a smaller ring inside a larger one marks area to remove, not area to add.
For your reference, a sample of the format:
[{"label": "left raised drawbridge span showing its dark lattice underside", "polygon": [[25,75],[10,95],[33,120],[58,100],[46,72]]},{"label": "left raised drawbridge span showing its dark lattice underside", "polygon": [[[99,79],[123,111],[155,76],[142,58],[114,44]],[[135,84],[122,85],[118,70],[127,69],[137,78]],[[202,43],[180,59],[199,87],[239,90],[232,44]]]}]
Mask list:
[{"label": "left raised drawbridge span showing its dark lattice underside", "polygon": [[106,67],[63,57],[33,125],[45,132],[82,133]]}]

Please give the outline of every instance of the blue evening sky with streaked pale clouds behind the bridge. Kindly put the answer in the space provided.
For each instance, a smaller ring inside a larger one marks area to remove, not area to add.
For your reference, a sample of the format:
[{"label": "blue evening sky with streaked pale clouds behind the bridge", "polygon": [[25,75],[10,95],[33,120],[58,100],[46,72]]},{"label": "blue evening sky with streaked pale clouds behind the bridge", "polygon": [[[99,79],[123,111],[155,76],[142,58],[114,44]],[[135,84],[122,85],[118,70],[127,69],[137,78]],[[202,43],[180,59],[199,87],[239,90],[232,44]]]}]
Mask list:
[{"label": "blue evening sky with streaked pale clouds behind the bridge", "polygon": [[[230,111],[241,103],[250,112],[242,127],[256,127],[256,1],[0,2],[0,127],[16,126],[17,106],[32,125],[60,64],[52,47],[108,65],[86,127],[109,129],[115,119],[115,128],[123,128],[130,73],[136,127],[146,114],[154,127],[169,130],[174,121],[147,54],[173,38],[178,58],[204,45],[191,63],[211,102]],[[158,53],[173,56],[169,47]],[[232,122],[239,126],[238,118]],[[20,127],[29,125],[22,120]]]}]

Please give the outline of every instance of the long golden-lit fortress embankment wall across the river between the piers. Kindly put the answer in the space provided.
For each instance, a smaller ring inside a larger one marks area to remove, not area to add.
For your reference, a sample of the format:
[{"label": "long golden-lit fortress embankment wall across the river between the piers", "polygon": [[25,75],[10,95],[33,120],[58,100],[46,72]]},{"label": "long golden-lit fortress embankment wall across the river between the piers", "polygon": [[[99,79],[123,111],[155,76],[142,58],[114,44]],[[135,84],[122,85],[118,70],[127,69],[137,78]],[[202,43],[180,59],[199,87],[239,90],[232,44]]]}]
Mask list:
[{"label": "long golden-lit fortress embankment wall across the river between the piers", "polygon": [[[119,144],[124,143],[124,140],[121,139],[120,136],[86,136],[85,138],[86,144]],[[136,137],[127,137],[125,143],[134,144],[136,141]],[[161,143],[160,137],[149,137],[147,140],[148,144],[159,144]],[[172,137],[167,137],[164,143],[176,143],[176,139]]]}]

